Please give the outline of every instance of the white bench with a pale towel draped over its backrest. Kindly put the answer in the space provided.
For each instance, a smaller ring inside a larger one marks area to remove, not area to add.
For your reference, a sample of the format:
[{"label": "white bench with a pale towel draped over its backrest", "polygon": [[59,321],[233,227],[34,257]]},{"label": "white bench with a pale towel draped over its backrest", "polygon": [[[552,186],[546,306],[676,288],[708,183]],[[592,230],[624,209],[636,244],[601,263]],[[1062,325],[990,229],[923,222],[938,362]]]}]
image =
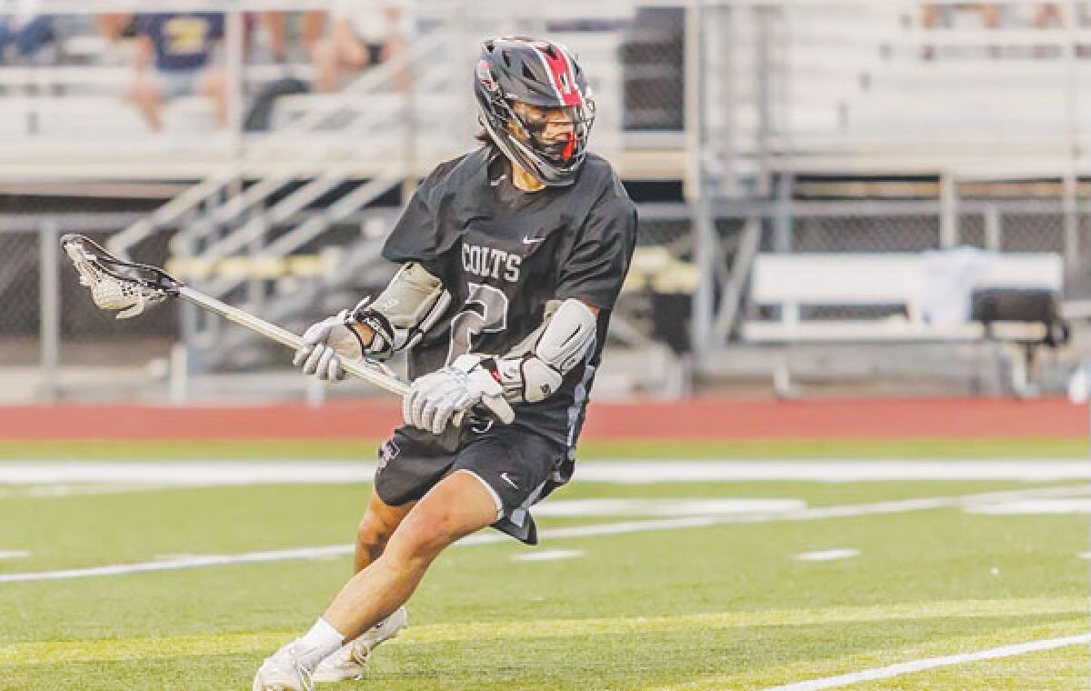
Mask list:
[{"label": "white bench with a pale towel draped over its backrest", "polygon": [[[1059,291],[1059,254],[991,254],[974,288],[1039,288]],[[1040,341],[1046,325],[994,322],[986,333],[978,322],[937,325],[924,318],[927,258],[923,253],[758,254],[751,302],[779,308],[772,320],[748,319],[742,337],[754,343],[964,341],[993,335],[1007,341]],[[802,319],[808,306],[895,308],[882,319]]]}]

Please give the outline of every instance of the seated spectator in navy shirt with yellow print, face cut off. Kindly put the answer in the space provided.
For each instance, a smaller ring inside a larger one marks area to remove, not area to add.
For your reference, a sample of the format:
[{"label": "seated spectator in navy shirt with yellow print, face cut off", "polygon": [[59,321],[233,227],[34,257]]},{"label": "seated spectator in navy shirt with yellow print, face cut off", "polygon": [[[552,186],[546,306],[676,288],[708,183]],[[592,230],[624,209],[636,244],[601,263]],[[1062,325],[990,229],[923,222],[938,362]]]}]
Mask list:
[{"label": "seated spectator in navy shirt with yellow print, face cut off", "polygon": [[218,12],[145,14],[140,17],[129,98],[152,129],[163,128],[165,100],[191,94],[213,99],[216,123],[227,123],[224,71],[215,64],[216,47],[224,37],[224,15]]}]

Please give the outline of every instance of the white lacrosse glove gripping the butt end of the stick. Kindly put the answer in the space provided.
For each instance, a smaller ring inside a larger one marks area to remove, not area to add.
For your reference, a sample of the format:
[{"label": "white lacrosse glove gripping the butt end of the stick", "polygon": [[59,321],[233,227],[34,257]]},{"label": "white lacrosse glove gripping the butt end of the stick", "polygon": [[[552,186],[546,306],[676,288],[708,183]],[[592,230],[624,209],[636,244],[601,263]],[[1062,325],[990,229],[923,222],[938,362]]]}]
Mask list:
[{"label": "white lacrosse glove gripping the butt end of the stick", "polygon": [[401,400],[406,425],[433,434],[443,432],[448,421],[460,425],[466,413],[481,403],[501,422],[515,419],[515,412],[504,400],[504,388],[484,367],[480,355],[461,355],[454,362],[412,382]]}]

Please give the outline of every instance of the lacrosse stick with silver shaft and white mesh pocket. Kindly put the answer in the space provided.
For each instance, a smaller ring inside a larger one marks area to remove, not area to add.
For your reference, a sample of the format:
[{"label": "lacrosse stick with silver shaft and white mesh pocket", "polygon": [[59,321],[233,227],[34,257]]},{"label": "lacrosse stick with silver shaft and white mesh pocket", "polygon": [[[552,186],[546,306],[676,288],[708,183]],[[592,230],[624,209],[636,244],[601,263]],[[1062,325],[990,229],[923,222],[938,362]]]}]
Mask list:
[{"label": "lacrosse stick with silver shaft and white mesh pocket", "polygon": [[[63,236],[61,247],[80,272],[80,283],[91,288],[91,299],[100,309],[119,310],[118,319],[136,317],[167,298],[179,298],[293,350],[303,346],[303,339],[290,331],[199,293],[161,269],[118,259],[82,235]],[[409,384],[385,365],[348,358],[341,358],[340,364],[345,371],[380,389],[399,396],[409,392]]]}]

